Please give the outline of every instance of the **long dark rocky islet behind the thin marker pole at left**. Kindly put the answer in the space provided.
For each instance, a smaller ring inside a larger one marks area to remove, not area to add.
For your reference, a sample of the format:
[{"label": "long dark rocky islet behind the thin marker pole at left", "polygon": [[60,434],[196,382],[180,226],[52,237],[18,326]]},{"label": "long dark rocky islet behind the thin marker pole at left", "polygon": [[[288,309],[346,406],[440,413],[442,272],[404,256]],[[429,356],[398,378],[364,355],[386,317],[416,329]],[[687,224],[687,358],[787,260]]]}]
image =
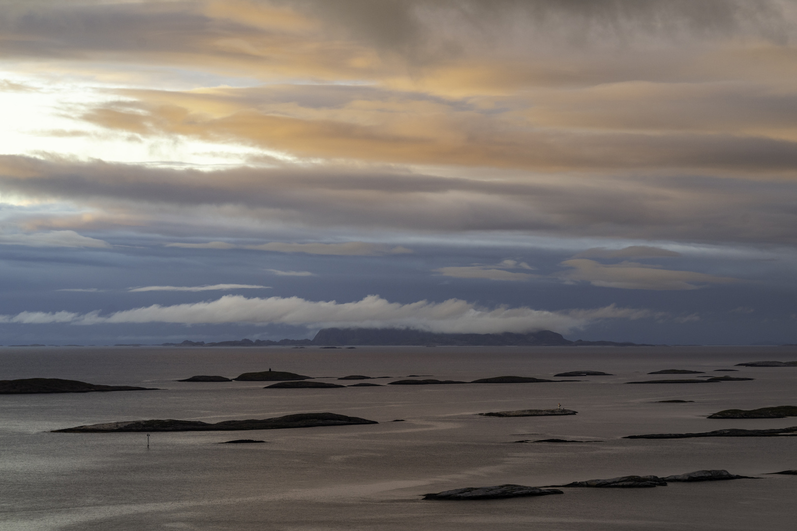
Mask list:
[{"label": "long dark rocky islet behind the thin marker pole at left", "polygon": [[379,424],[375,420],[336,413],[298,413],[263,420],[224,420],[209,424],[199,420],[126,420],[105,424],[88,424],[75,428],[53,430],[61,433],[96,433],[106,431],[240,431],[277,430],[286,428],[317,428],[319,426],[348,426],[351,424]]}]

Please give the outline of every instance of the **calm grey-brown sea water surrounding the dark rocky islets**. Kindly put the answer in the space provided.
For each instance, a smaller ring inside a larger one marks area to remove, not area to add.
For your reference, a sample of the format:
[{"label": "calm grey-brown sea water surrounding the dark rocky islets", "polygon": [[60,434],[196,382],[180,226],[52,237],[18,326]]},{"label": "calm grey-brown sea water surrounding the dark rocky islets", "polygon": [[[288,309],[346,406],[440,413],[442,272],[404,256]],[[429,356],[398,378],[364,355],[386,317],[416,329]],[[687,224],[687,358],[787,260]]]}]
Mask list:
[{"label": "calm grey-brown sea water surrounding the dark rocky islets", "polygon": [[[418,494],[711,468],[745,475],[797,469],[797,438],[621,439],[797,425],[797,418],[705,418],[727,408],[797,405],[797,367],[733,367],[742,361],[795,359],[797,351],[788,347],[4,347],[0,379],[61,377],[163,390],[0,396],[0,529],[791,530],[797,476],[654,489],[569,489],[543,498],[482,502],[429,502]],[[574,378],[583,380],[575,383],[331,389],[175,381],[269,368],[313,377],[418,374],[465,381],[546,378],[571,370],[614,376]],[[623,385],[664,378],[646,374],[659,369],[711,373],[730,368],[740,372],[714,374],[756,380]],[[673,399],[694,402],[655,403]],[[559,403],[579,414],[476,415]],[[49,432],[116,420],[217,422],[324,411],[380,424],[155,433],[148,449],[143,433]],[[397,419],[405,422],[390,422]],[[268,442],[217,444],[239,438]],[[512,443],[550,438],[599,442]]]}]

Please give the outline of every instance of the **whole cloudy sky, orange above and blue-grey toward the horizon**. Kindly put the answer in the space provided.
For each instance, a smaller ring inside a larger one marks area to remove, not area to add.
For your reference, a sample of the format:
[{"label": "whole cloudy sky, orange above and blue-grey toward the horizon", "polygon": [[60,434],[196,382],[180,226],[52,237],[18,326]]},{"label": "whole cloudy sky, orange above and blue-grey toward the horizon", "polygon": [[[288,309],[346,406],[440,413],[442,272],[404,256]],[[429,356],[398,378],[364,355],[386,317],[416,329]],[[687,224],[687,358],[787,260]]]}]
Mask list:
[{"label": "whole cloudy sky, orange above and blue-grey toward the horizon", "polygon": [[797,343],[797,2],[0,0],[0,344]]}]

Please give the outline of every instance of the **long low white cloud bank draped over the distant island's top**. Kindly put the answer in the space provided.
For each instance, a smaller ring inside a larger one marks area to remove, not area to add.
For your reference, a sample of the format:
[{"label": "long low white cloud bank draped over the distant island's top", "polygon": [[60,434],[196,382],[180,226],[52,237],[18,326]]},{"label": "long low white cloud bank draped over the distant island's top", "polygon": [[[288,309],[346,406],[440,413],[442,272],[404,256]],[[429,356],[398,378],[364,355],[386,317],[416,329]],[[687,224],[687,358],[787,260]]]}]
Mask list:
[{"label": "long low white cloud bank draped over the distant island's top", "polygon": [[417,303],[391,303],[379,295],[368,295],[352,303],[308,301],[299,297],[247,299],[242,295],[225,295],[214,301],[160,306],[153,304],[132,310],[101,315],[99,310],[88,314],[69,311],[53,313],[25,311],[17,315],[0,315],[2,323],[102,323],[171,322],[184,325],[221,323],[258,323],[306,326],[308,329],[328,326],[363,328],[414,328],[442,333],[491,334],[501,332],[528,333],[556,330],[567,334],[599,319],[660,317],[650,310],[619,308],[614,305],[591,310],[547,311],[528,306],[483,308],[461,299],[442,303],[422,300]]}]

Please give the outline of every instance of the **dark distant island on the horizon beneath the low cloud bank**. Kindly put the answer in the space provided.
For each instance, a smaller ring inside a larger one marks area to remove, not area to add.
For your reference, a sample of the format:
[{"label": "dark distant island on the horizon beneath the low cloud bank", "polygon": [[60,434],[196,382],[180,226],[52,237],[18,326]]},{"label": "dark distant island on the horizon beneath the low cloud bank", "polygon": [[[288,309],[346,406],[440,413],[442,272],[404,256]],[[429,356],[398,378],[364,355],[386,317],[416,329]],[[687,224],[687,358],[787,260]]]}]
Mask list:
[{"label": "dark distant island on the horizon beneath the low cloud bank", "polygon": [[570,341],[551,330],[528,334],[438,334],[403,328],[324,328],[312,339],[241,339],[214,343],[186,341],[162,346],[654,346],[646,343]]}]

